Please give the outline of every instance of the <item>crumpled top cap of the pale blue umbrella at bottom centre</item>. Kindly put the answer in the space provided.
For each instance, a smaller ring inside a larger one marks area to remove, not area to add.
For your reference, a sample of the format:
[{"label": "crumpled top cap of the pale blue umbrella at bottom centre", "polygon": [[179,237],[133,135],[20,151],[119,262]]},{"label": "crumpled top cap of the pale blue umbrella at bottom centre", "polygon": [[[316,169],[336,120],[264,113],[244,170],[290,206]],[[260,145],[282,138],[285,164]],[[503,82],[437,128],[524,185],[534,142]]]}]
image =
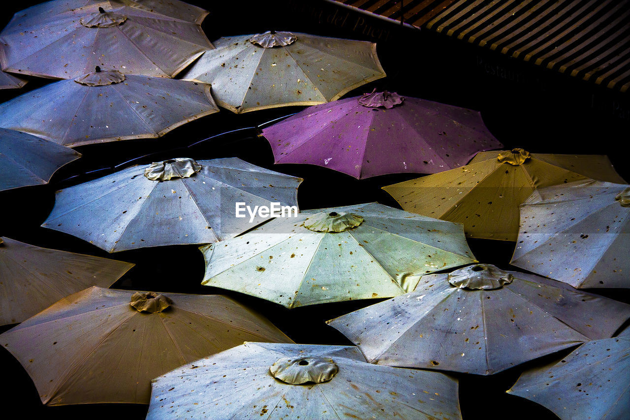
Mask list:
[{"label": "crumpled top cap of the pale blue umbrella at bottom centre", "polygon": [[289,385],[328,382],[337,374],[339,366],[331,358],[298,356],[278,359],[269,366],[269,373]]}]

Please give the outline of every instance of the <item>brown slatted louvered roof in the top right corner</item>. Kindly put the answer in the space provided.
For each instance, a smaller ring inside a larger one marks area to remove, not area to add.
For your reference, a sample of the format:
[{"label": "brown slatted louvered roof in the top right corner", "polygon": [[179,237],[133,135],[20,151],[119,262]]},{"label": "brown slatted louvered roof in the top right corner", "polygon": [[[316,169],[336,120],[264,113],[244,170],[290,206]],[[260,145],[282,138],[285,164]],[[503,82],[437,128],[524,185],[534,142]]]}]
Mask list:
[{"label": "brown slatted louvered roof in the top right corner", "polygon": [[337,0],[625,92],[629,0]]}]

